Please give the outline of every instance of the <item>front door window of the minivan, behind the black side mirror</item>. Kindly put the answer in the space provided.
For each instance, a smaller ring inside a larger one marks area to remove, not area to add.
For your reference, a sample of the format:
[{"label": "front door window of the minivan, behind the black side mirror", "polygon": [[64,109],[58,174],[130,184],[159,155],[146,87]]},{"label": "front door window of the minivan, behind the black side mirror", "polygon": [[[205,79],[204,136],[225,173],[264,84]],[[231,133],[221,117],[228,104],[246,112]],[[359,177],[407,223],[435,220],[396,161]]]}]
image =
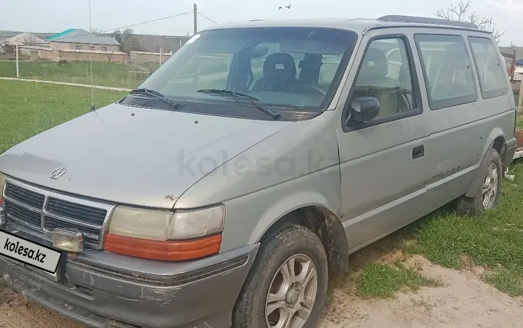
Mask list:
[{"label": "front door window of the minivan, behind the black side mirror", "polygon": [[377,117],[416,108],[407,47],[402,38],[373,40],[363,56],[353,87],[353,99],[372,96],[379,100]]}]

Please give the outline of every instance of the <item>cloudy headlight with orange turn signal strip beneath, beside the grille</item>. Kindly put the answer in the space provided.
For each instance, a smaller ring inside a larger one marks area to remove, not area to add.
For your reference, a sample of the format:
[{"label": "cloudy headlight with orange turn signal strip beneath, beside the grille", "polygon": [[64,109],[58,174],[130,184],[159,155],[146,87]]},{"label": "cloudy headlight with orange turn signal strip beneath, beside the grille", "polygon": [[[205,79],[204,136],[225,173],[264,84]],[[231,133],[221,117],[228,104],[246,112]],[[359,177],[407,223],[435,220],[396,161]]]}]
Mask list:
[{"label": "cloudy headlight with orange turn signal strip beneath, beside the grille", "polygon": [[220,250],[225,207],[158,211],[116,207],[105,251],[153,260],[190,260]]}]

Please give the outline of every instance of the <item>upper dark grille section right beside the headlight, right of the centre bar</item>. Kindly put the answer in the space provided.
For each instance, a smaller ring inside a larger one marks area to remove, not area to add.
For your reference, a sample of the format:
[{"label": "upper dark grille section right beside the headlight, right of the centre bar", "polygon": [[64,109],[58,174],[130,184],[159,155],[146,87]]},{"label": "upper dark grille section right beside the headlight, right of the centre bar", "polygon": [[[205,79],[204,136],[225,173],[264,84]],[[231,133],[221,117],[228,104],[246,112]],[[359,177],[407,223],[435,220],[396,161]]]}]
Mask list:
[{"label": "upper dark grille section right beside the headlight, right of the centre bar", "polygon": [[45,210],[48,213],[63,216],[65,218],[73,218],[77,221],[84,221],[95,225],[103,225],[107,210],[97,209],[82,204],[75,204],[59,200],[57,198],[50,198],[47,201]]}]

